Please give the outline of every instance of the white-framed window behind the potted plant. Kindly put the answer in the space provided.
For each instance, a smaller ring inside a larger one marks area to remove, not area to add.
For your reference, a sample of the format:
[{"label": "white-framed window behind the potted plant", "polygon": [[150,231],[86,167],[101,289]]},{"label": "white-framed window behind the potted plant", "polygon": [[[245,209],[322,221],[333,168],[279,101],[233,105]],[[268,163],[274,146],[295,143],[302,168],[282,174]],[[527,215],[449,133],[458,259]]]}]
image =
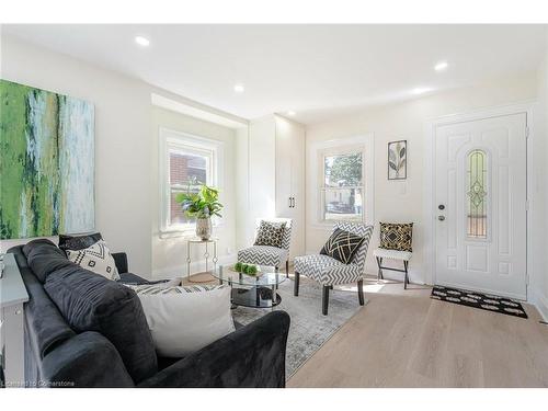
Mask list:
[{"label": "white-framed window behind the potted plant", "polygon": [[197,193],[202,184],[217,185],[219,144],[168,129],[160,130],[161,231],[187,231],[195,221],[187,218],[176,195]]}]

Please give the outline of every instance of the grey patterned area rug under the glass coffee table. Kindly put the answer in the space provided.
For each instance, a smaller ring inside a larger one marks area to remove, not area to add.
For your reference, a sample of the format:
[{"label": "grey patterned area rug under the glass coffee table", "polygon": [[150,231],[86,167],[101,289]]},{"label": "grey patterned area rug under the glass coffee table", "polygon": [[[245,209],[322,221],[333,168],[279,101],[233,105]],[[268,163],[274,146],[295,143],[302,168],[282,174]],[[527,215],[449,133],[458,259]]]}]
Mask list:
[{"label": "grey patterned area rug under the glass coffee table", "polygon": [[[335,289],[329,295],[329,313],[321,313],[321,286],[307,278],[300,279],[299,296],[293,295],[293,279],[279,285],[282,302],[274,310],[289,313],[292,323],[287,338],[286,379],[306,363],[352,316],[363,307],[357,294]],[[367,299],[365,299],[367,304]],[[236,321],[248,324],[272,309],[238,307],[232,310]]]}]

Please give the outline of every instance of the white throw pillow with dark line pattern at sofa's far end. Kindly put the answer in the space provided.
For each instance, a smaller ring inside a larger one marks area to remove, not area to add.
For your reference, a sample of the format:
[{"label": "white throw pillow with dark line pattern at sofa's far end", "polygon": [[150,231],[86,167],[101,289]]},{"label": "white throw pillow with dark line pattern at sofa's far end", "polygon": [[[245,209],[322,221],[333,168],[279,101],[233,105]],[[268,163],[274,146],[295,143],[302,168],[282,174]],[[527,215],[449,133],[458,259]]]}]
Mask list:
[{"label": "white throw pillow with dark line pattern at sofa's far end", "polygon": [[67,258],[82,269],[92,271],[109,279],[119,279],[116,263],[103,240],[83,250],[66,250]]}]

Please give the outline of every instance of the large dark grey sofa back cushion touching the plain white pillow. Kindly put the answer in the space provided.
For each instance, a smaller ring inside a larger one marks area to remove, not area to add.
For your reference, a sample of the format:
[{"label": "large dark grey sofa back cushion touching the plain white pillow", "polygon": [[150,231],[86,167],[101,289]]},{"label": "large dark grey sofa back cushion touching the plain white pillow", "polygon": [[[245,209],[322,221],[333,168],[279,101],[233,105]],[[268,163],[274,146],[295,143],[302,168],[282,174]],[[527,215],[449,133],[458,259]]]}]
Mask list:
[{"label": "large dark grey sofa back cushion touching the plain white pillow", "polygon": [[152,336],[133,289],[76,264],[49,274],[44,288],[75,331],[98,331],[113,343],[135,383],[158,370]]}]

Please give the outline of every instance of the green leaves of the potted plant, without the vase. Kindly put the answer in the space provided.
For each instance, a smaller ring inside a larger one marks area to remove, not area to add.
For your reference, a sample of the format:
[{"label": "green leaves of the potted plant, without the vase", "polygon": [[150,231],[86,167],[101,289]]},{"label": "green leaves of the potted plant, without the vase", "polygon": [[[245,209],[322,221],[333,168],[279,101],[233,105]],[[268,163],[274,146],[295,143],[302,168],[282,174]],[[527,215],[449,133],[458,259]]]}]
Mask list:
[{"label": "green leaves of the potted plant, without the vase", "polygon": [[184,215],[191,218],[222,217],[219,212],[224,206],[218,201],[218,190],[202,184],[199,191],[193,193],[191,191],[192,185],[194,184],[190,181],[186,193],[179,193],[175,196],[175,202],[181,204]]}]

